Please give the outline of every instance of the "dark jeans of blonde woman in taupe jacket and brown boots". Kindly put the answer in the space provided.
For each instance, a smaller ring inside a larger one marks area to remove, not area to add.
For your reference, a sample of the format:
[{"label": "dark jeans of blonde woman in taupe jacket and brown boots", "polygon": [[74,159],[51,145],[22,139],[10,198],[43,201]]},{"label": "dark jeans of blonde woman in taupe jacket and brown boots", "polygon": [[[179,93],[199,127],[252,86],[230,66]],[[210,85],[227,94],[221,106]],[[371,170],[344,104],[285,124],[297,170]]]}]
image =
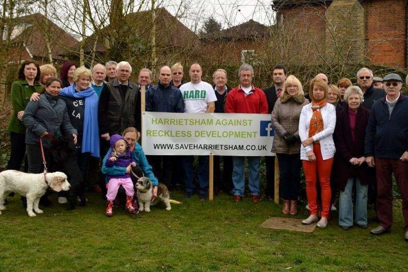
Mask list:
[{"label": "dark jeans of blonde woman in taupe jacket and brown boots", "polygon": [[[284,200],[297,200],[300,187],[299,154],[277,154],[279,161],[279,194]],[[272,166],[274,167],[274,165]]]}]

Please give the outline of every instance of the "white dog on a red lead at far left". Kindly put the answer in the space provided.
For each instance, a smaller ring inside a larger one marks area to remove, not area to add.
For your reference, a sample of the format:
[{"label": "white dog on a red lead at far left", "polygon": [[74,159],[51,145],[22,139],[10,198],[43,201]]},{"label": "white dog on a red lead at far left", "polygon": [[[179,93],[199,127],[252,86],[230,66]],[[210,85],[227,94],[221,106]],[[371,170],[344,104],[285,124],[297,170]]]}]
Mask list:
[{"label": "white dog on a red lead at far left", "polygon": [[46,174],[27,174],[16,170],[6,170],[0,173],[0,214],[5,210],[4,200],[10,192],[16,192],[27,197],[27,213],[29,216],[36,216],[33,212],[42,213],[38,208],[40,197],[45,194],[48,187],[56,192],[68,191],[69,185],[67,176],[63,172],[53,172]]}]

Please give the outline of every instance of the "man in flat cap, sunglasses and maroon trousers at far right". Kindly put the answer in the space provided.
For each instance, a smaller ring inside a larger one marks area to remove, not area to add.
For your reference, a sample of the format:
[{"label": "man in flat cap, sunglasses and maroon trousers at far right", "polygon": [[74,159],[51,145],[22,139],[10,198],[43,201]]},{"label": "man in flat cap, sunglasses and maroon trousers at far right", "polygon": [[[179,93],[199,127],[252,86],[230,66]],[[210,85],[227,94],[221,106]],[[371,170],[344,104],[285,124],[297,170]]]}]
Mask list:
[{"label": "man in flat cap, sunglasses and maroon trousers at far right", "polygon": [[402,79],[396,73],[384,77],[386,97],[371,108],[366,130],[365,156],[377,175],[377,215],[379,226],[371,234],[380,235],[392,225],[392,174],[397,181],[408,241],[408,97],[401,92]]}]

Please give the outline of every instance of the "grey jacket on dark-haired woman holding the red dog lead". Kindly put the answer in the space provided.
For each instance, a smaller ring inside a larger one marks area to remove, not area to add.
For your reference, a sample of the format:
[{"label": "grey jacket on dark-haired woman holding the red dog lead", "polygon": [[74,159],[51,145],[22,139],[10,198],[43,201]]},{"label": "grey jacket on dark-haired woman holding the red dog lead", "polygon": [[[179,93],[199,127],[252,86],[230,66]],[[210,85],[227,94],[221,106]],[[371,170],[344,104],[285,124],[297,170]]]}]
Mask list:
[{"label": "grey jacket on dark-haired woman holding the red dog lead", "polygon": [[[27,104],[22,122],[27,128],[25,132],[25,143],[27,144],[39,144],[39,137],[45,131],[56,139],[62,133],[77,134],[77,130],[72,127],[69,121],[65,101],[47,93],[41,94],[38,101],[30,101]],[[48,138],[43,138],[42,143],[44,147],[52,146],[52,142]]]}]

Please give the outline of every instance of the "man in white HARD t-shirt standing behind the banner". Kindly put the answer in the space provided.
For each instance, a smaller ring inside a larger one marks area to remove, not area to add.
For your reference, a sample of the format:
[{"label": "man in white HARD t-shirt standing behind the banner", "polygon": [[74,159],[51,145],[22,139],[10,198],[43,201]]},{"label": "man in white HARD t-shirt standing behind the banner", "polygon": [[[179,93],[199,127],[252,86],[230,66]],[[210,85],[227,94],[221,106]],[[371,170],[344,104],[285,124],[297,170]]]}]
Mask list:
[{"label": "man in white HARD t-shirt standing behind the banner", "polygon": [[[184,99],[184,112],[214,112],[217,97],[215,96],[213,87],[209,83],[201,81],[201,66],[198,63],[192,64],[190,66],[189,75],[191,81],[180,86],[180,91]],[[185,174],[185,197],[189,198],[195,191],[193,183],[194,156],[184,156],[182,162]],[[198,183],[200,188],[198,189],[198,196],[200,200],[206,200],[208,195],[208,167],[208,156],[199,156]]]}]

